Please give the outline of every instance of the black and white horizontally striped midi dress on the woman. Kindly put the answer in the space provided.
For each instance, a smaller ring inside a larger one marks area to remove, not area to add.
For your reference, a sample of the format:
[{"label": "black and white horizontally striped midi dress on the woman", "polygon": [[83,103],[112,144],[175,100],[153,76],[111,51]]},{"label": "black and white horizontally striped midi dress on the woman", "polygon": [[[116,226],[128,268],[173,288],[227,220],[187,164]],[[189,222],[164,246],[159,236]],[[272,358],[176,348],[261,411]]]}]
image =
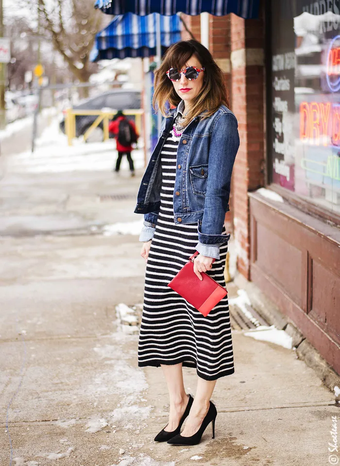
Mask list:
[{"label": "black and white horizontally striped midi dress on the woman", "polygon": [[[195,367],[202,379],[216,380],[235,372],[227,295],[204,317],[167,286],[198,242],[197,222],[173,220],[177,147],[170,134],[161,153],[161,206],[146,264],[138,366],[182,362]],[[222,234],[226,234],[224,225]],[[220,259],[207,272],[222,286],[227,249],[227,243],[221,245]]]}]

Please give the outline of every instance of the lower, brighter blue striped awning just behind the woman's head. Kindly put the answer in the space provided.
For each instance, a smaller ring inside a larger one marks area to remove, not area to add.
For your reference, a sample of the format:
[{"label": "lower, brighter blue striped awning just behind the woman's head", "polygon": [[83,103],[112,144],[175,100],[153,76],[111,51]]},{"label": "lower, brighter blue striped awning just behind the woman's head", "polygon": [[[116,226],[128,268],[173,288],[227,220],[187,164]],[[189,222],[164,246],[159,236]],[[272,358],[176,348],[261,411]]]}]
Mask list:
[{"label": "lower, brighter blue striped awning just behind the woman's head", "polygon": [[[181,21],[178,15],[161,16],[162,54],[181,40]],[[119,15],[96,35],[90,53],[91,61],[112,58],[148,57],[156,55],[156,15]]]}]

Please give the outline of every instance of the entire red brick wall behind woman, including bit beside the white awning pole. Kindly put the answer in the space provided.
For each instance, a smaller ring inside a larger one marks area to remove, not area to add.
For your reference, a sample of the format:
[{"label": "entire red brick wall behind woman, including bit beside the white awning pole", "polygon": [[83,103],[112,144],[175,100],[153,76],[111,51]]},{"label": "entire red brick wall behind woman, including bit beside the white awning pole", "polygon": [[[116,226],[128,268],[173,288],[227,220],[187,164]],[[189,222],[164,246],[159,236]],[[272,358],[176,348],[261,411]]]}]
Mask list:
[{"label": "entire red brick wall behind woman, including bit beside the white awning pole", "polygon": [[[200,40],[200,17],[183,15]],[[234,231],[238,270],[250,278],[248,191],[264,186],[264,20],[236,15],[210,16],[209,49],[224,71],[230,108],[238,119],[240,147],[236,157],[230,212],[226,226]],[[184,39],[189,38],[187,33]],[[233,228],[232,228],[233,223]]]}]

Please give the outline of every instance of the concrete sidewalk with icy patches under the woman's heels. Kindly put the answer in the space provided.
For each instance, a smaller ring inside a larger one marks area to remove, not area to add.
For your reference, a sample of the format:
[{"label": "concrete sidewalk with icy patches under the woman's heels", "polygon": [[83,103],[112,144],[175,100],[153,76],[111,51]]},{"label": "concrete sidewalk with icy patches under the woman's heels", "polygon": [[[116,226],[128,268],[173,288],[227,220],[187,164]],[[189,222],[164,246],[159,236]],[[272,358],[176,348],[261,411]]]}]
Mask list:
[{"label": "concrete sidewalk with icy patches under the woman's heels", "polygon": [[[209,426],[194,447],[153,442],[167,424],[166,383],[160,368],[137,367],[138,328],[117,313],[136,306],[140,318],[141,243],[105,230],[139,221],[142,173],[9,173],[0,185],[0,465],[11,454],[16,466],[337,464],[334,394],[293,350],[243,330],[233,331],[235,374],[214,392],[216,438]],[[184,372],[194,393],[196,372]]]}]

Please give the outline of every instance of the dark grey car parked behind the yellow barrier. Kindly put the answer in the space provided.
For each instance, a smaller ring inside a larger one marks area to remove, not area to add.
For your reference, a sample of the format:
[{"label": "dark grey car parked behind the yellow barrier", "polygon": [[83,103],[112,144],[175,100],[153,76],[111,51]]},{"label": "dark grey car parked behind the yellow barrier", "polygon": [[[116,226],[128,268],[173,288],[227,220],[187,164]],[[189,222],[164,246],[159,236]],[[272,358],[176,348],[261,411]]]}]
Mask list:
[{"label": "dark grey car parked behind the yellow barrier", "polygon": [[[80,104],[74,105],[74,110],[102,110],[107,108],[112,109],[139,109],[141,107],[141,93],[130,89],[114,89],[103,94],[91,97],[82,101]],[[60,129],[65,133],[65,113],[64,118],[60,121]],[[76,137],[85,134],[85,131],[96,120],[95,115],[76,115]],[[131,118],[134,120],[134,118]],[[87,142],[102,141],[104,137],[103,124],[100,123],[95,130],[86,139]]]}]

